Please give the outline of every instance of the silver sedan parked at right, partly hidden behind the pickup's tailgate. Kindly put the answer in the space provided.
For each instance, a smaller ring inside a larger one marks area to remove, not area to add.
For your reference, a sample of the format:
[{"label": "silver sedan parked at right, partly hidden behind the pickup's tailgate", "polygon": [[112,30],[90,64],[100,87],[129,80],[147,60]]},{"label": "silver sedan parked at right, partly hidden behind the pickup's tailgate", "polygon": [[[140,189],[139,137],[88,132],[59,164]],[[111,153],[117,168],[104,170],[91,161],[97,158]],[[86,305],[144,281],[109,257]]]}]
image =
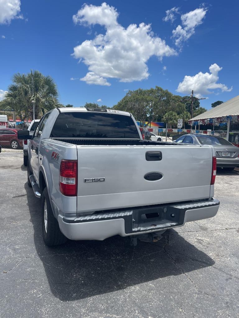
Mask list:
[{"label": "silver sedan parked at right, partly hidden behind the pickup's tailgate", "polygon": [[206,134],[187,134],[179,137],[175,142],[211,145],[217,157],[217,167],[234,170],[239,166],[239,148],[220,136]]}]

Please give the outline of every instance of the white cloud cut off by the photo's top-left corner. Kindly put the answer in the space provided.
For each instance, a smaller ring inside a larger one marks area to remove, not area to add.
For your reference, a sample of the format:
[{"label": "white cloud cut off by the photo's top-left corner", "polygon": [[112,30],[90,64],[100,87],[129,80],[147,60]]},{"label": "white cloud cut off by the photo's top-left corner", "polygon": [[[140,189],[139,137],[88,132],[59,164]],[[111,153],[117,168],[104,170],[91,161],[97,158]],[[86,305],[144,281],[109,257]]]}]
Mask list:
[{"label": "white cloud cut off by the photo's top-left corner", "polygon": [[8,24],[12,19],[23,19],[20,0],[0,0],[0,24]]}]

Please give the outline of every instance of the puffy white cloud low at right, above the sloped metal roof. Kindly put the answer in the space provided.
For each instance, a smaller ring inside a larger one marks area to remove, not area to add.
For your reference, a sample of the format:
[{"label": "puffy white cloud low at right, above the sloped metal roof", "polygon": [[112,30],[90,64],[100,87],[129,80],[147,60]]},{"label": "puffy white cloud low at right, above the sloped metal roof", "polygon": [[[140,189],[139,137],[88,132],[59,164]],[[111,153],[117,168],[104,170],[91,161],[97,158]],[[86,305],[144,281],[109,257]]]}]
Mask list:
[{"label": "puffy white cloud low at right, above the sloped metal roof", "polygon": [[199,94],[211,94],[213,89],[220,89],[221,92],[230,92],[231,88],[228,88],[225,84],[217,83],[219,77],[218,72],[222,67],[219,67],[216,63],[209,67],[210,73],[199,72],[194,76],[185,76],[184,80],[178,84],[177,92],[188,94],[192,89]]}]

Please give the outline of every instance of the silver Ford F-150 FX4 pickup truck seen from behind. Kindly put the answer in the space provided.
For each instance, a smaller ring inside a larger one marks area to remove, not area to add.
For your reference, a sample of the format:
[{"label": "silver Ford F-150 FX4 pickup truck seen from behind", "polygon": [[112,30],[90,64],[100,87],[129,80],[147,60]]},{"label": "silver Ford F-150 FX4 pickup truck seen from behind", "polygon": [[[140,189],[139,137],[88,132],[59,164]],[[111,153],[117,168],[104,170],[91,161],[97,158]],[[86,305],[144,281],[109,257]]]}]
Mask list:
[{"label": "silver Ford F-150 FX4 pickup truck seen from behind", "polygon": [[142,140],[127,112],[55,108],[28,145],[28,185],[41,199],[43,239],[157,240],[166,229],[214,217],[211,146]]}]

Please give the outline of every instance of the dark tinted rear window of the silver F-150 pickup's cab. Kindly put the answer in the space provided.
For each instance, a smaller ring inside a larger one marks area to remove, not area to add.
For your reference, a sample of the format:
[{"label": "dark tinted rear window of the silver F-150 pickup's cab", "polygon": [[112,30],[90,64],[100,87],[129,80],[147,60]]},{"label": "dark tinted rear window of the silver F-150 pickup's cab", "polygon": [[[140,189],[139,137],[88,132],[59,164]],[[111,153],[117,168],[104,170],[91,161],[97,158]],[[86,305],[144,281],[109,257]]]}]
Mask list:
[{"label": "dark tinted rear window of the silver F-150 pickup's cab", "polygon": [[129,116],[72,112],[59,114],[51,137],[139,139],[139,133],[133,119]]}]

